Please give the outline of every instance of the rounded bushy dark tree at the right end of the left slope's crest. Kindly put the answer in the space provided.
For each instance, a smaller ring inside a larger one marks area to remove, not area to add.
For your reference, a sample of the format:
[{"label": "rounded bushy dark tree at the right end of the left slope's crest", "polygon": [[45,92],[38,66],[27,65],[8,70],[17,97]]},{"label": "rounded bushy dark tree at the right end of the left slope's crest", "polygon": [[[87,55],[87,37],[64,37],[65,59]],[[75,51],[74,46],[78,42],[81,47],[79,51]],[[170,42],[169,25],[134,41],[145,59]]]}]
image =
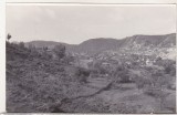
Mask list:
[{"label": "rounded bushy dark tree at the right end of the left slope's crest", "polygon": [[65,56],[65,46],[63,44],[55,45],[53,52],[56,54],[59,60],[63,59]]}]

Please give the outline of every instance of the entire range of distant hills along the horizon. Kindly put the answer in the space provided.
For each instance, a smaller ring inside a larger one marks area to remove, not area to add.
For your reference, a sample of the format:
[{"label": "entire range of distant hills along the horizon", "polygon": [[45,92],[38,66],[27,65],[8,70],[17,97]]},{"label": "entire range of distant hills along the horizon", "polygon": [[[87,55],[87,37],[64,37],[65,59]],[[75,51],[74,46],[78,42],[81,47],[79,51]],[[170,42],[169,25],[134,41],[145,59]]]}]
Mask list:
[{"label": "entire range of distant hills along the horizon", "polygon": [[94,54],[107,50],[118,49],[143,49],[143,48],[171,48],[176,45],[176,33],[165,35],[133,35],[121,40],[112,38],[90,39],[81,44],[66,44],[53,41],[32,41],[25,45],[33,44],[37,48],[53,48],[58,44],[64,44],[69,52]]}]

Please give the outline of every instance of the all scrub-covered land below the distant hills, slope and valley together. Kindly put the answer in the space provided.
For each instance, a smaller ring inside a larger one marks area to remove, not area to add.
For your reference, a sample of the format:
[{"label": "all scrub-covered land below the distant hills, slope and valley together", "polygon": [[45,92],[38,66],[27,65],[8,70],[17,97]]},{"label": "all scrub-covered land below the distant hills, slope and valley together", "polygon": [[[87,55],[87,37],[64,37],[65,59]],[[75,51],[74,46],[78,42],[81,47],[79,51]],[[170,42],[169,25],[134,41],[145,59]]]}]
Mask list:
[{"label": "all scrub-covered land below the distant hills, slope and valley together", "polygon": [[[101,58],[88,58],[92,59],[88,66],[82,67],[82,58],[67,53],[63,44],[53,49],[25,48],[23,42],[10,43],[11,35],[8,38],[7,112],[176,111],[176,105],[169,103],[175,102],[176,90],[173,60],[129,52],[118,52],[115,60],[101,53]],[[106,98],[112,101],[106,102]]]}]

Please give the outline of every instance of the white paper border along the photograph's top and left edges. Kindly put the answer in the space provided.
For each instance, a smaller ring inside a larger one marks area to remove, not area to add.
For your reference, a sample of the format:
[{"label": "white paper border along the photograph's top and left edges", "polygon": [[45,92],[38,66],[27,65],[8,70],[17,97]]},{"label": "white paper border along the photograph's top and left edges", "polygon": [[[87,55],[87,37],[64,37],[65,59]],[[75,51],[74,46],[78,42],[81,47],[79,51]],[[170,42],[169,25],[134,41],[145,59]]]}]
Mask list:
[{"label": "white paper border along the photograph's top and left edges", "polygon": [[[91,6],[92,4],[175,4],[177,6],[176,0],[84,0],[84,1],[83,0],[0,0],[0,114],[3,113],[6,114],[6,6],[17,6],[17,4],[40,6],[41,3],[52,4],[52,6],[55,3],[58,4],[60,3],[63,6],[64,4],[71,4],[71,6],[72,4],[81,4],[81,6],[82,4],[91,4]],[[177,7],[176,7],[176,12],[177,12]],[[177,20],[176,20],[176,27],[177,27]]]}]

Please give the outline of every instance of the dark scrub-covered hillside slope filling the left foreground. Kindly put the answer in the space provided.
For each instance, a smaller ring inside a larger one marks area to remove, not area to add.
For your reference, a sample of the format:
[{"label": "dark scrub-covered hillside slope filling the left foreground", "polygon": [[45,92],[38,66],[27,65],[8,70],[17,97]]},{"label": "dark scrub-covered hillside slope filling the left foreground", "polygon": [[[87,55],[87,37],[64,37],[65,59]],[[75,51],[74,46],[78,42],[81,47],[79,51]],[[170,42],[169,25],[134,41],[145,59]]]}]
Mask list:
[{"label": "dark scrub-covered hillside slope filling the left foreground", "polygon": [[66,56],[63,46],[51,53],[7,42],[7,111],[51,112],[52,105],[76,94],[80,83],[65,72]]}]

